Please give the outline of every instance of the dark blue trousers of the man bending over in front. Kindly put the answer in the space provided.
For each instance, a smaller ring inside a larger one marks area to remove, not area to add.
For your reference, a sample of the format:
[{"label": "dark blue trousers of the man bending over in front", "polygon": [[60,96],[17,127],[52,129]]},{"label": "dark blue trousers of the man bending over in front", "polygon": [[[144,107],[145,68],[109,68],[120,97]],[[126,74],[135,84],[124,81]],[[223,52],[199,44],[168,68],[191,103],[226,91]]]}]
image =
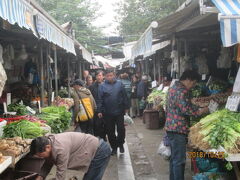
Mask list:
[{"label": "dark blue trousers of the man bending over in front", "polygon": [[110,146],[101,139],[100,146],[98,147],[89,169],[83,177],[83,180],[101,180],[107,168],[110,156]]}]

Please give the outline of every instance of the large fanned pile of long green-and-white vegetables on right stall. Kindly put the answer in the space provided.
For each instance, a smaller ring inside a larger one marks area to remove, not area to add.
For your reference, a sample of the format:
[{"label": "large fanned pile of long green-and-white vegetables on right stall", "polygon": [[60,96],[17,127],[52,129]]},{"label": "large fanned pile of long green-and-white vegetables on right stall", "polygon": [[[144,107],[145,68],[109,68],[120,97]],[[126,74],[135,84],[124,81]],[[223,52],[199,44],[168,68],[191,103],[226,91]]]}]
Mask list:
[{"label": "large fanned pile of long green-and-white vegetables on right stall", "polygon": [[189,141],[200,150],[222,146],[229,153],[240,153],[240,113],[223,109],[204,117],[190,128]]}]

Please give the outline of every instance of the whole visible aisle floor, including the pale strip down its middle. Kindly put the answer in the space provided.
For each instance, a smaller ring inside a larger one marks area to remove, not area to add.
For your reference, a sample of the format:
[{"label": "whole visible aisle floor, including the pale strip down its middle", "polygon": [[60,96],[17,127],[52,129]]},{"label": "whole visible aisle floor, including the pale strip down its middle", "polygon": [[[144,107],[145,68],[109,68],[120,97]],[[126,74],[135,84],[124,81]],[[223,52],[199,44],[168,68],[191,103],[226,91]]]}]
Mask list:
[{"label": "whole visible aisle floor, including the pale strip down its middle", "polygon": [[[164,135],[162,129],[145,128],[140,118],[126,127],[125,153],[111,156],[103,180],[168,180],[169,162],[157,154],[158,146]],[[53,168],[47,180],[54,178]],[[67,171],[66,180],[76,176],[83,177],[81,171]],[[185,179],[191,180],[190,160],[187,160]]]}]

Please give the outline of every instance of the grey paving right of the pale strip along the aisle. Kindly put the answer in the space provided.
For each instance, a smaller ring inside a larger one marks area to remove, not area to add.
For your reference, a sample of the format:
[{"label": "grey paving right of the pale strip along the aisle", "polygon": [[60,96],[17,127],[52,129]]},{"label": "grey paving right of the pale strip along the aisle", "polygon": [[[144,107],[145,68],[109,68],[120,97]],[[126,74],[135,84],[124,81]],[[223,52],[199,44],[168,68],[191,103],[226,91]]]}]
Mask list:
[{"label": "grey paving right of the pale strip along the aisle", "polygon": [[[134,122],[127,127],[127,142],[136,180],[168,180],[169,162],[157,154],[164,131],[146,129],[140,118]],[[189,159],[185,179],[192,179]]]}]

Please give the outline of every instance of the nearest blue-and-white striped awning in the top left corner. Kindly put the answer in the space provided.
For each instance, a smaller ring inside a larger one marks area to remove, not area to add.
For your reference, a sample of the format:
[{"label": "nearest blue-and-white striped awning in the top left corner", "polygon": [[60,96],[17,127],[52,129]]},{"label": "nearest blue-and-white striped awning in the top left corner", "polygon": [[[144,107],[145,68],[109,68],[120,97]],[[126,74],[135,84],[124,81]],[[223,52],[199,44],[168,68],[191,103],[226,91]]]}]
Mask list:
[{"label": "nearest blue-and-white striped awning in the top left corner", "polygon": [[33,8],[24,0],[0,0],[0,17],[21,28],[34,29]]}]

